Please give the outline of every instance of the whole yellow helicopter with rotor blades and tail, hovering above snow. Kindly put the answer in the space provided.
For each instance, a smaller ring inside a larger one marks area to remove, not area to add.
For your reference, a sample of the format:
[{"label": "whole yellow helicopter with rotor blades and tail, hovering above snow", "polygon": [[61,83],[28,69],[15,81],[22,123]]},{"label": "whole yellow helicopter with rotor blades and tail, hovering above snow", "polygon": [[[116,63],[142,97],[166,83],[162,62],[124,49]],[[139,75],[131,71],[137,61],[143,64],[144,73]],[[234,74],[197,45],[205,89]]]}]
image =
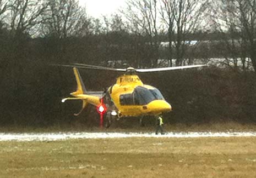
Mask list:
[{"label": "whole yellow helicopter with rotor blades and tail, hovering above snow", "polygon": [[[159,114],[172,111],[172,106],[164,99],[160,91],[150,85],[143,84],[137,76],[137,72],[156,72],[167,70],[178,70],[184,68],[201,67],[204,65],[189,65],[178,67],[162,67],[162,68],[143,68],[135,69],[133,67],[110,68],[94,65],[85,65],[75,63],[74,65],[61,65],[73,67],[75,79],[77,81],[77,91],[70,93],[74,97],[67,97],[66,100],[82,100],[83,106],[78,116],[88,105],[94,105],[101,115],[100,125],[103,125],[103,116],[106,114],[105,126],[109,127],[111,119],[119,119],[121,117],[143,117],[157,116]],[[124,72],[117,77],[116,83],[111,85],[106,91],[87,91],[81,79],[78,68],[89,68],[94,70],[110,70]],[[142,122],[142,119],[140,120]]]}]

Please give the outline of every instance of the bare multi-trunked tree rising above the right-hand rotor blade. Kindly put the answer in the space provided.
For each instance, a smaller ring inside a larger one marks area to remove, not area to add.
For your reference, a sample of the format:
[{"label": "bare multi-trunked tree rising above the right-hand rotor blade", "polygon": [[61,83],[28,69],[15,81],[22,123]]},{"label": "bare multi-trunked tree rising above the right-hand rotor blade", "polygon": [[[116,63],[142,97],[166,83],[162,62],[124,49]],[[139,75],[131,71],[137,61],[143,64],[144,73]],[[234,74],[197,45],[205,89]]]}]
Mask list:
[{"label": "bare multi-trunked tree rising above the right-hand rotor blade", "polygon": [[[180,66],[186,55],[186,46],[190,44],[188,35],[204,28],[208,0],[160,0],[160,2],[161,16],[168,29],[169,59],[172,60],[175,56],[176,66]],[[173,47],[172,43],[174,43]],[[188,60],[192,62],[193,59]]]}]

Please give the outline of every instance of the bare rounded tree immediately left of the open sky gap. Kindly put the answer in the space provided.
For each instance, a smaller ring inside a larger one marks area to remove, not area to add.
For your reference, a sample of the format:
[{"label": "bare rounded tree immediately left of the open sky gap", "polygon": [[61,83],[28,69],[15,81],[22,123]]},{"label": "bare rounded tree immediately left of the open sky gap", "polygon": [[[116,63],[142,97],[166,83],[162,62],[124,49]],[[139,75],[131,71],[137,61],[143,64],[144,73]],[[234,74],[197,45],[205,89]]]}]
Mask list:
[{"label": "bare rounded tree immediately left of the open sky gap", "polygon": [[43,15],[44,35],[67,38],[81,34],[85,27],[85,8],[79,6],[77,0],[47,0],[49,6]]}]

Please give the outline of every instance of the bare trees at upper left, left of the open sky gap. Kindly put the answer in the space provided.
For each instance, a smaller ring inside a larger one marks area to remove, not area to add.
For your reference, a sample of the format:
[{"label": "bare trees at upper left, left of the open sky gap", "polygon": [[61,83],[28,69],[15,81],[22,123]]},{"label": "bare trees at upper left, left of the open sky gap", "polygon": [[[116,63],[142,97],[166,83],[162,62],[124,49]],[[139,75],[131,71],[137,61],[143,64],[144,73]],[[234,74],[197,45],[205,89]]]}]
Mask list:
[{"label": "bare trees at upper left, left of the open sky gap", "polygon": [[13,38],[77,35],[86,24],[86,14],[78,1],[0,1],[2,27]]}]

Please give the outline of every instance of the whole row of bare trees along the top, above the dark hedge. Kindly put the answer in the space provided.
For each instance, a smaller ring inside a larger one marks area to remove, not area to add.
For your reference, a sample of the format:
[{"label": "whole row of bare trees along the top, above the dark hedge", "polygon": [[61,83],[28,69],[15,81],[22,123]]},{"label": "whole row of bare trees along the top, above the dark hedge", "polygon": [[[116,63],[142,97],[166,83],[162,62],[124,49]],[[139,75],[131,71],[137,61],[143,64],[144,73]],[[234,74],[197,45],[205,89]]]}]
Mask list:
[{"label": "whole row of bare trees along the top, above the dark hedge", "polygon": [[[255,70],[255,0],[127,0],[126,3],[118,15],[94,19],[77,0],[1,0],[1,36],[11,37],[14,48],[18,48],[22,39],[28,37],[134,35],[138,37],[134,38],[138,45],[146,43],[149,49],[146,62],[137,58],[135,65],[149,67],[157,66],[163,41],[167,42],[169,65],[193,63],[193,56],[187,55],[187,46],[197,39],[197,43],[193,42],[193,48],[197,48],[202,38],[198,36],[217,31],[222,33],[219,44],[230,53],[222,54],[226,64],[238,66],[242,62],[243,69],[252,65]],[[199,35],[195,38],[194,34]],[[140,42],[141,39],[144,41]],[[116,43],[115,38],[112,42],[105,40],[106,48]]]}]

